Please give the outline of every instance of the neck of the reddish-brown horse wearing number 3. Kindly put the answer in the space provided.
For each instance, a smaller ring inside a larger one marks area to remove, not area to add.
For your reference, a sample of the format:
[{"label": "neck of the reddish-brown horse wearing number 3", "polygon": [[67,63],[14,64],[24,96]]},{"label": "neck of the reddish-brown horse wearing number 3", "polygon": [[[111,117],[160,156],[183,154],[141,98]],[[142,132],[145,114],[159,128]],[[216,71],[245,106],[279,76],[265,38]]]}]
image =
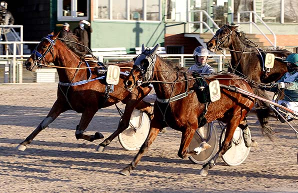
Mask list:
[{"label": "neck of the reddish-brown horse wearing number 3", "polygon": [[[176,80],[182,79],[184,79],[183,76],[179,76],[177,79],[177,72],[171,67],[169,67],[166,63],[161,61],[159,57],[157,57],[154,66],[153,80],[161,82],[174,82]],[[174,89],[172,88],[172,84],[159,82],[152,84],[157,97],[160,99],[168,99],[171,96],[174,96],[184,91],[184,86],[179,86],[181,83],[175,84]]]}]

